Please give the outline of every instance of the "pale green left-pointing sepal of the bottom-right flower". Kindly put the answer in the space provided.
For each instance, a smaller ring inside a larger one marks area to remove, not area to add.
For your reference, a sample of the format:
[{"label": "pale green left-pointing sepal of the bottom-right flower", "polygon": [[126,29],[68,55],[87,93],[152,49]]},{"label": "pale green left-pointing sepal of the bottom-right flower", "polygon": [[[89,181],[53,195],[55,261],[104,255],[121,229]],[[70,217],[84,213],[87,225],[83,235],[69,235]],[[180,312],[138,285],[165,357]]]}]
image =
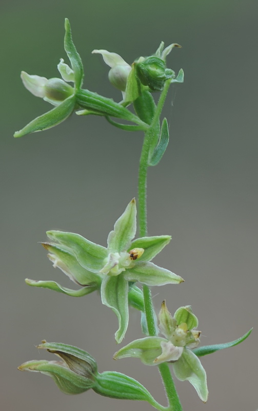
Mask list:
[{"label": "pale green left-pointing sepal of the bottom-right flower", "polygon": [[161,343],[167,343],[167,340],[161,337],[145,337],[134,340],[121,348],[114,354],[114,360],[121,358],[140,358],[146,365],[156,365],[154,360],[161,355]]}]

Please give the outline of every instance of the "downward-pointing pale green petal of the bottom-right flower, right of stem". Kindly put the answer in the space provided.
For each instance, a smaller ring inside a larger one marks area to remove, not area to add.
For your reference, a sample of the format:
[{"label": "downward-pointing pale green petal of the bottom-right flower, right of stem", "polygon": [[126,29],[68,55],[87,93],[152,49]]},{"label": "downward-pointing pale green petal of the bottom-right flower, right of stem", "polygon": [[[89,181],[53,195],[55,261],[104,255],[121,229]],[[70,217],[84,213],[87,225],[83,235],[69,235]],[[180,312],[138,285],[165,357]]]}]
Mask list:
[{"label": "downward-pointing pale green petal of the bottom-right flower, right of stem", "polygon": [[180,381],[188,380],[196,390],[200,399],[206,402],[208,399],[207,378],[201,361],[195,354],[185,348],[178,361],[172,364],[174,374]]}]

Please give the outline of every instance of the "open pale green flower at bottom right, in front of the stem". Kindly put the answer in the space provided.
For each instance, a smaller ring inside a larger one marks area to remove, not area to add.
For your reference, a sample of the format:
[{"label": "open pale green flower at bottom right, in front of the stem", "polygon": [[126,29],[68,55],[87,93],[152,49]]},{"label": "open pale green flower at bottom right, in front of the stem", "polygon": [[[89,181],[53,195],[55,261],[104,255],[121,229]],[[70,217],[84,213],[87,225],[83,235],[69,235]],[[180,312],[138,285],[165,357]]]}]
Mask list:
[{"label": "open pale green flower at bottom right, in front of the stem", "polygon": [[191,351],[200,343],[200,331],[195,330],[198,320],[191,307],[178,308],[172,317],[164,301],[158,321],[158,328],[165,338],[146,337],[134,340],[117,351],[114,359],[137,357],[147,365],[171,362],[176,378],[180,381],[188,380],[200,399],[206,402],[206,372],[199,358]]}]

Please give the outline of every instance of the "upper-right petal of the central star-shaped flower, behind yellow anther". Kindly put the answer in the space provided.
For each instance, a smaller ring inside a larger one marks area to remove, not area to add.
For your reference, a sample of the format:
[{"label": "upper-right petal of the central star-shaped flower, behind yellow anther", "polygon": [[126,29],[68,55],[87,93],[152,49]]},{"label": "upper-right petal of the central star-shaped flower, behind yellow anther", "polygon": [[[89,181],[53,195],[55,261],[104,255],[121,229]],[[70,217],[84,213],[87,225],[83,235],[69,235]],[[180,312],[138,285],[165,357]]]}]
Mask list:
[{"label": "upper-right petal of the central star-shaped flower, behind yellow anther", "polygon": [[[132,241],[130,249],[133,248],[143,248],[144,253],[137,259],[137,261],[150,261],[158,253],[163,250],[163,248],[171,240],[170,235],[156,235],[152,237],[141,237]],[[130,251],[129,249],[127,250]]]}]

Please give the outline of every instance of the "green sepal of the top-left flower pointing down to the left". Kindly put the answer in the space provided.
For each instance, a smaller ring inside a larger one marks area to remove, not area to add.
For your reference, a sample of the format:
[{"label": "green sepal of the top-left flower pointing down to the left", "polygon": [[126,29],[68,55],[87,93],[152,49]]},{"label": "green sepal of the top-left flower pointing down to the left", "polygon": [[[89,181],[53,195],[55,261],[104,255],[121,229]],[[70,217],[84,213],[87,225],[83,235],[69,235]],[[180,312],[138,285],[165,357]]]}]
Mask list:
[{"label": "green sepal of the top-left flower pointing down to the left", "polygon": [[26,134],[41,132],[62,123],[72,114],[74,106],[75,96],[70,96],[52,110],[35,118],[21,130],[15,132],[14,137],[23,137]]}]

